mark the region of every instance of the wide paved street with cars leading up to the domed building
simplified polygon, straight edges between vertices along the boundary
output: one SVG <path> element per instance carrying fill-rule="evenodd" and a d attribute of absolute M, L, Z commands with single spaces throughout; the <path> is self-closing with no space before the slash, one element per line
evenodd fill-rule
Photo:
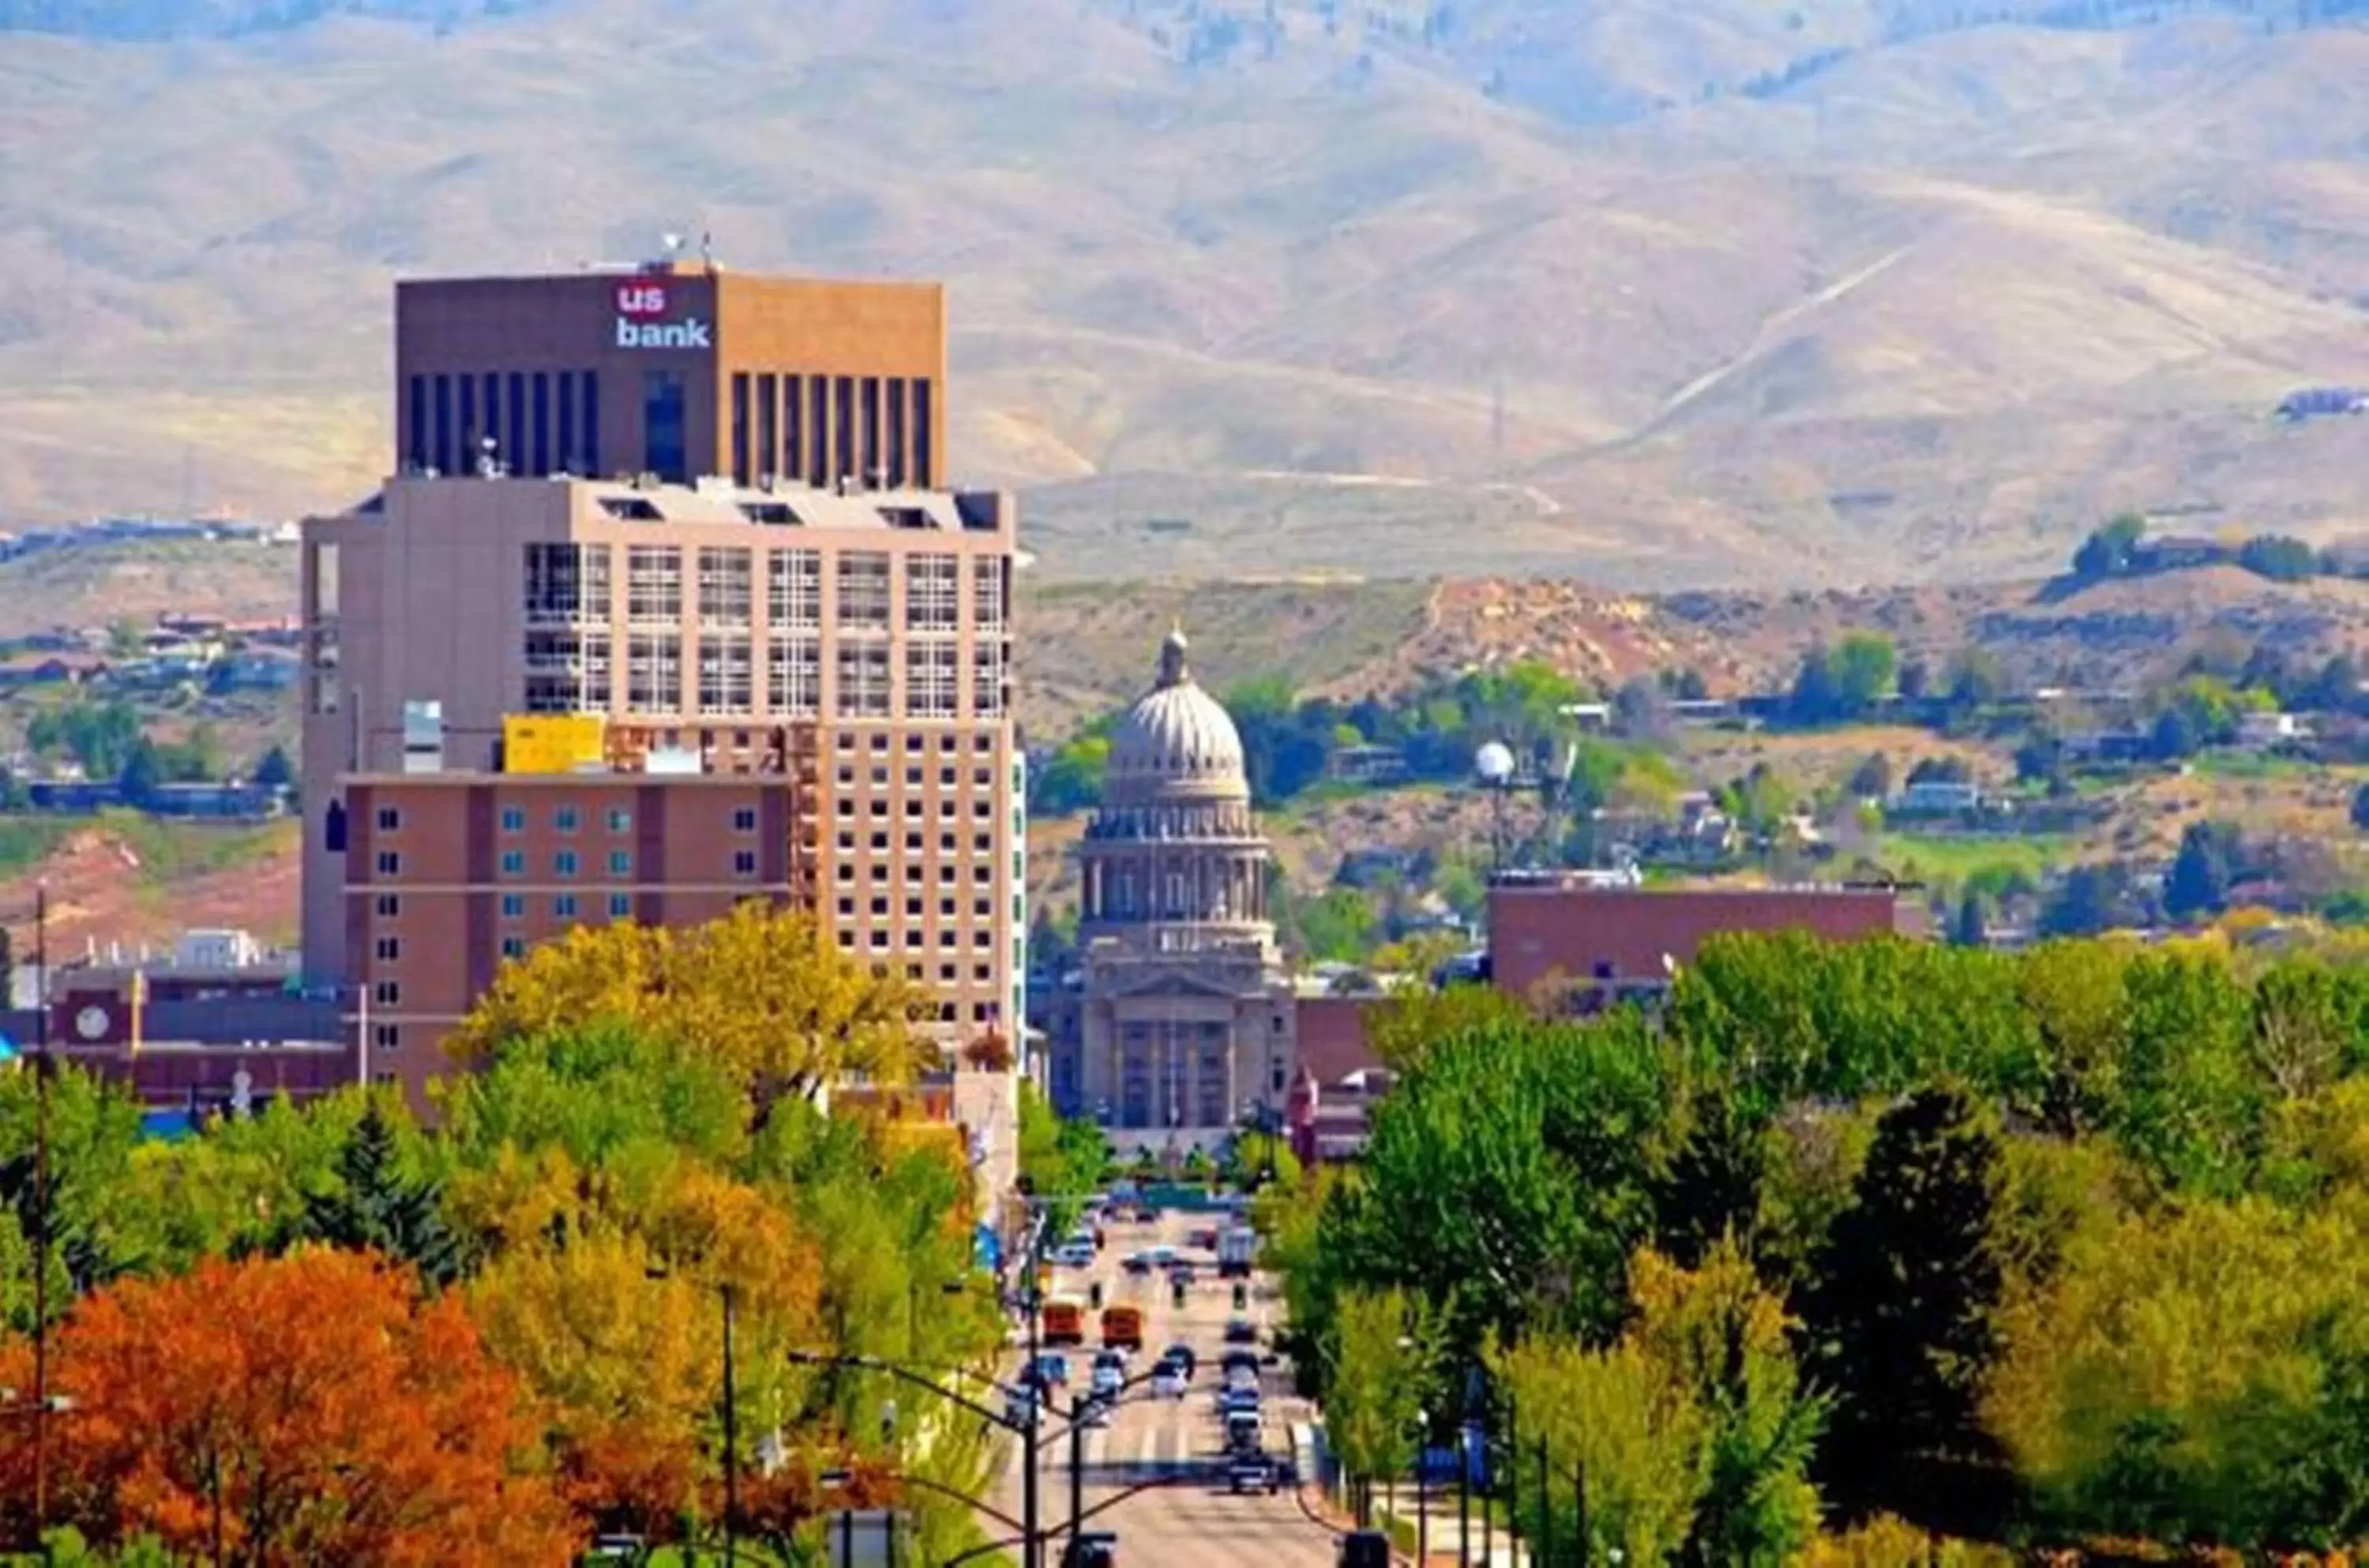
<path fill-rule="evenodd" d="M 1156 1400 L 1149 1386 L 1130 1388 L 1109 1426 L 1085 1431 L 1085 1464 L 1078 1469 L 1078 1480 L 1087 1511 L 1128 1487 L 1158 1483 L 1094 1514 L 1085 1528 L 1116 1530 L 1118 1561 L 1125 1568 L 1222 1563 L 1331 1568 L 1334 1532 L 1301 1511 L 1291 1487 L 1272 1497 L 1265 1492 L 1234 1497 L 1225 1485 L 1225 1438 L 1215 1397 L 1225 1383 L 1218 1362 L 1225 1355 L 1225 1322 L 1234 1317 L 1232 1281 L 1218 1279 L 1218 1260 L 1208 1248 L 1184 1246 L 1189 1232 L 1225 1225 L 1225 1215 L 1192 1213 L 1166 1213 L 1158 1225 L 1113 1222 L 1109 1246 L 1094 1258 L 1092 1270 L 1054 1270 L 1057 1296 L 1083 1300 L 1087 1286 L 1102 1281 L 1106 1305 L 1125 1303 L 1144 1310 L 1144 1350 L 1132 1360 L 1130 1376 L 1149 1371 L 1173 1343 L 1187 1343 L 1199 1355 L 1182 1400 Z M 1177 1248 L 1194 1265 L 1182 1312 L 1173 1305 L 1166 1272 L 1128 1274 L 1121 1267 L 1128 1253 L 1156 1244 Z M 1267 1279 L 1253 1279 L 1251 1307 L 1244 1312 L 1260 1329 L 1260 1352 L 1270 1348 L 1267 1329 L 1277 1312 L 1270 1291 Z M 1087 1315 L 1087 1343 L 1068 1352 L 1071 1383 L 1057 1397 L 1059 1409 L 1068 1409 L 1068 1397 L 1087 1388 L 1094 1350 L 1102 1343 L 1094 1324 L 1097 1315 Z M 1267 1452 L 1289 1457 L 1291 1424 L 1308 1419 L 1308 1405 L 1291 1395 L 1289 1367 L 1267 1369 L 1260 1386 Z M 1047 1431 L 1061 1433 L 1042 1447 L 1038 1476 L 1038 1502 L 1045 1523 L 1052 1525 L 1064 1523 L 1071 1509 L 1071 1445 L 1066 1421 L 1052 1419 Z M 995 1478 L 995 1502 L 1012 1514 L 1021 1509 L 1016 1450 L 1016 1442 L 1007 1445 Z M 1059 1547 L 1047 1556 L 1047 1568 L 1057 1563 Z"/>

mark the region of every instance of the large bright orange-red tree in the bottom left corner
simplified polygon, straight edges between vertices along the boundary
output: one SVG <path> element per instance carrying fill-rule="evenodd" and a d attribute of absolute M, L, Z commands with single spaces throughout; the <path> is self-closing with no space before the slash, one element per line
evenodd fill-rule
<path fill-rule="evenodd" d="M 0 1352 L 26 1386 L 28 1345 Z M 220 1563 L 566 1563 L 538 1428 L 457 1296 L 365 1253 L 206 1260 L 81 1300 L 52 1338 L 50 1518 Z M 31 1445 L 0 1502 L 31 1514 Z"/>

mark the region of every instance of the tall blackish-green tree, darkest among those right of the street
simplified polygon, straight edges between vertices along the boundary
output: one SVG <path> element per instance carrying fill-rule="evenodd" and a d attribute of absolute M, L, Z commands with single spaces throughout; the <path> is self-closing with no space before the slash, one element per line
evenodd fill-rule
<path fill-rule="evenodd" d="M 2004 1289 L 1999 1199 L 1999 1144 L 1964 1092 L 1919 1090 L 1876 1123 L 1803 1303 L 1810 1371 L 1836 1395 L 1819 1473 L 1850 1516 L 1964 1528 L 1935 1499 L 1999 1506 L 1980 1485 L 1978 1419 Z"/>

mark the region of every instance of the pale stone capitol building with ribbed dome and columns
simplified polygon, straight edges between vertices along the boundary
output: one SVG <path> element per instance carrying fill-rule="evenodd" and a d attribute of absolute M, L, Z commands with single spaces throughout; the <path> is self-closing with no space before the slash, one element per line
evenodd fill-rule
<path fill-rule="evenodd" d="M 1267 917 L 1267 841 L 1241 734 L 1199 687 L 1184 632 L 1111 737 L 1078 846 L 1078 964 L 1042 997 L 1052 1099 L 1121 1144 L 1215 1149 L 1282 1113 L 1293 988 Z M 1130 1137 L 1130 1132 L 1135 1137 Z"/>

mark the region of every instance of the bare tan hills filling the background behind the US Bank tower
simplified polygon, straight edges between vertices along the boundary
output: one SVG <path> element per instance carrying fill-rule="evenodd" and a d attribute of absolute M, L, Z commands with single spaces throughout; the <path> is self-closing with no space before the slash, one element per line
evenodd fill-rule
<path fill-rule="evenodd" d="M 2357 0 L 0 0 L 0 507 L 351 500 L 389 284 L 940 277 L 1052 578 L 2369 523 Z"/>

